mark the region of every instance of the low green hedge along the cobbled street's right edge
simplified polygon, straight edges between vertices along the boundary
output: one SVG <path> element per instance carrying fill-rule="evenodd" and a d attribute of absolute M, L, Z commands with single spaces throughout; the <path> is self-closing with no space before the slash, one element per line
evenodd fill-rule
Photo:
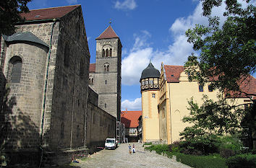
<path fill-rule="evenodd" d="M 176 161 L 195 168 L 226 168 L 226 159 L 218 155 L 193 156 L 188 154 L 176 154 Z"/>

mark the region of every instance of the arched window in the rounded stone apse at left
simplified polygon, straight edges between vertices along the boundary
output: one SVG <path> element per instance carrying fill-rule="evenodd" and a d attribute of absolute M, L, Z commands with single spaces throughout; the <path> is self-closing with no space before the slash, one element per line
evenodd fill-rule
<path fill-rule="evenodd" d="M 9 61 L 9 79 L 12 83 L 20 83 L 22 74 L 22 58 L 14 56 Z"/>

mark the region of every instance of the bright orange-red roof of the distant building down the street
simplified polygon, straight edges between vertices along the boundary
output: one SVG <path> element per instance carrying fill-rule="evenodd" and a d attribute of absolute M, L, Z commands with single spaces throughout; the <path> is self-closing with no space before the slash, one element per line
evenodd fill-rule
<path fill-rule="evenodd" d="M 137 128 L 140 115 L 142 111 L 121 111 L 121 123 L 125 124 L 125 128 Z"/>

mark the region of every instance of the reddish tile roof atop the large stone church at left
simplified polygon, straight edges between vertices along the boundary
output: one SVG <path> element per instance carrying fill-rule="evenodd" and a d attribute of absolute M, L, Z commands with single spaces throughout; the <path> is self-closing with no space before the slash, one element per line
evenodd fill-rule
<path fill-rule="evenodd" d="M 35 9 L 30 10 L 28 13 L 20 14 L 21 17 L 25 17 L 26 20 L 40 20 L 40 19 L 54 19 L 64 17 L 72 10 L 76 9 L 80 5 L 72 5 L 72 6 L 60 6 L 46 9 Z"/>

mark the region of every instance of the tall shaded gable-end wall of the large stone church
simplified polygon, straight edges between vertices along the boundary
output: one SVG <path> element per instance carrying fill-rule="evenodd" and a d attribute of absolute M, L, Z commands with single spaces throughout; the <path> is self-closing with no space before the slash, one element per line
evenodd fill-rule
<path fill-rule="evenodd" d="M 82 9 L 78 7 L 61 18 L 56 53 L 52 109 L 46 111 L 51 149 L 85 146 L 85 121 L 88 96 L 88 49 Z M 69 45 L 68 63 L 64 63 Z M 50 110 L 50 109 L 49 109 Z M 51 118 L 51 121 L 50 121 Z"/>

